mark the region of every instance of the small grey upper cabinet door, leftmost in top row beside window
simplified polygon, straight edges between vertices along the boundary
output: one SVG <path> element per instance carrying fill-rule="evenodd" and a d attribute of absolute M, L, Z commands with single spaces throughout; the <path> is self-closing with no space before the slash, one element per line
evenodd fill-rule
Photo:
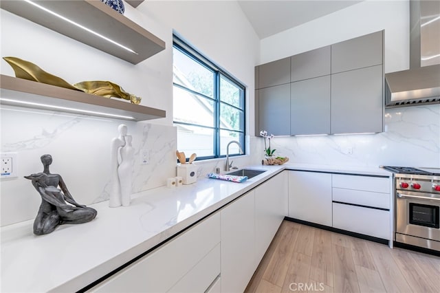
<path fill-rule="evenodd" d="M 259 88 L 290 83 L 290 57 L 259 66 Z"/>

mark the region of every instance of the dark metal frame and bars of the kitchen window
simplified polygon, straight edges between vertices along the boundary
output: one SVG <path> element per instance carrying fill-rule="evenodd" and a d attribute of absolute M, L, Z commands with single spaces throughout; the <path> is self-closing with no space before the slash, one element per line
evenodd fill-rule
<path fill-rule="evenodd" d="M 173 52 L 174 50 L 179 50 L 182 54 L 185 54 L 189 58 L 191 58 L 196 63 L 199 63 L 199 65 L 206 67 L 214 74 L 214 97 L 206 96 L 204 94 L 201 94 L 199 91 L 193 91 L 192 89 L 189 89 L 185 87 L 184 85 L 180 85 L 178 83 L 174 82 L 173 77 L 173 89 L 174 87 L 178 87 L 179 89 L 188 91 L 192 94 L 197 94 L 199 96 L 202 96 L 203 98 L 206 98 L 212 102 L 214 102 L 214 123 L 212 127 L 207 127 L 206 125 L 201 124 L 193 124 L 193 123 L 186 123 L 186 122 L 176 122 L 173 117 L 173 125 L 176 126 L 176 124 L 180 125 L 188 125 L 188 126 L 194 126 L 194 127 L 203 127 L 207 129 L 212 129 L 213 131 L 213 140 L 212 140 L 212 150 L 214 155 L 206 155 L 197 157 L 196 160 L 210 160 L 210 159 L 217 159 L 217 158 L 225 158 L 226 155 L 221 155 L 221 131 L 232 131 L 234 133 L 238 133 L 239 138 L 236 139 L 240 142 L 243 154 L 234 153 L 230 154 L 230 157 L 232 156 L 239 156 L 239 155 L 245 155 L 246 153 L 246 145 L 245 145 L 245 135 L 246 135 L 246 87 L 241 83 L 237 78 L 234 78 L 231 74 L 226 72 L 223 68 L 219 67 L 212 61 L 210 61 L 206 56 L 203 56 L 200 52 L 195 50 L 194 47 L 189 45 L 186 41 L 182 40 L 179 36 L 176 34 L 173 34 Z M 173 61 L 174 63 L 174 61 Z M 174 76 L 174 74 L 173 74 Z M 220 96 L 220 87 L 221 87 L 221 78 L 225 79 L 229 83 L 232 83 L 232 85 L 236 86 L 241 93 L 241 96 L 239 97 L 240 104 L 242 105 L 242 108 L 236 107 L 232 104 L 229 104 L 228 102 L 224 102 L 221 100 Z M 173 96 L 173 103 L 174 103 L 174 96 Z M 228 105 L 229 107 L 232 107 L 238 111 L 240 111 L 243 115 L 243 121 L 242 121 L 242 127 L 243 129 L 235 130 L 235 129 L 227 129 L 224 127 L 221 127 L 221 105 Z M 174 116 L 174 115 L 173 115 Z M 188 154 L 187 154 L 188 155 Z"/>

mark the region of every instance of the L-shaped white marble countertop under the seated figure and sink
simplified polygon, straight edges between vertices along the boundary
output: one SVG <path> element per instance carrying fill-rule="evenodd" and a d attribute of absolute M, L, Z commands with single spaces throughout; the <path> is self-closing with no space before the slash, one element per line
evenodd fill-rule
<path fill-rule="evenodd" d="M 49 235 L 33 235 L 33 220 L 1 228 L 1 292 L 80 290 L 284 169 L 391 175 L 379 168 L 247 168 L 267 172 L 243 183 L 199 178 L 195 184 L 151 189 L 134 194 L 129 207 L 94 204 L 94 221 L 63 225 Z"/>

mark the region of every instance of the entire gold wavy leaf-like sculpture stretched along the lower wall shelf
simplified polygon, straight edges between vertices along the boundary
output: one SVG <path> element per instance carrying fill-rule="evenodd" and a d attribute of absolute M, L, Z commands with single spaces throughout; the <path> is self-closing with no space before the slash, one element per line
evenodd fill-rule
<path fill-rule="evenodd" d="M 14 69 L 15 76 L 18 78 L 45 83 L 47 85 L 55 85 L 56 87 L 65 87 L 66 89 L 74 89 L 76 91 L 85 91 L 87 94 L 102 96 L 104 98 L 123 98 L 135 105 L 139 105 L 142 99 L 127 93 L 120 85 L 116 85 L 110 81 L 91 80 L 70 85 L 67 81 L 63 80 L 63 78 L 45 72 L 29 61 L 24 61 L 17 57 L 3 57 L 3 59 L 11 65 L 12 69 Z"/>

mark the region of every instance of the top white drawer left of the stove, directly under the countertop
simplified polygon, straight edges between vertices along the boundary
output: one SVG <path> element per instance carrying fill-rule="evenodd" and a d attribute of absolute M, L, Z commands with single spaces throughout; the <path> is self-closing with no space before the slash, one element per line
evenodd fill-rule
<path fill-rule="evenodd" d="M 333 187 L 375 193 L 390 193 L 391 185 L 389 178 L 340 174 L 333 174 L 331 183 Z"/>

